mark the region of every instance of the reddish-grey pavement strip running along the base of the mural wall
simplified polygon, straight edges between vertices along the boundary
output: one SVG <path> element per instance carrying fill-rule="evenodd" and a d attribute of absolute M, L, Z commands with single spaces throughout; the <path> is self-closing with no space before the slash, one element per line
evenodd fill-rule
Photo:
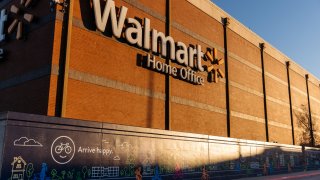
<path fill-rule="evenodd" d="M 288 174 L 278 174 L 278 175 L 271 175 L 271 176 L 261 176 L 261 177 L 251 177 L 251 178 L 241 178 L 242 180 L 281 180 L 281 179 L 303 179 L 306 177 L 312 176 L 319 176 L 320 177 L 320 170 L 313 170 L 313 171 L 302 171 L 296 173 L 288 173 Z M 319 178 L 320 179 L 320 178 Z"/>

